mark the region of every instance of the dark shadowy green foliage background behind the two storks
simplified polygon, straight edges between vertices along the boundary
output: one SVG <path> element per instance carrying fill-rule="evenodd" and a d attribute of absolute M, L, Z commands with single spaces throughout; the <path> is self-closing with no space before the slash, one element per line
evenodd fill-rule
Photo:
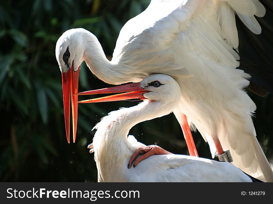
<path fill-rule="evenodd" d="M 2 182 L 96 182 L 92 127 L 108 112 L 137 102 L 80 104 L 76 143 L 68 144 L 56 41 L 67 29 L 85 28 L 97 36 L 109 59 L 122 26 L 149 0 L 7 0 L 0 3 L 0 179 Z M 81 66 L 79 91 L 105 88 Z M 257 138 L 273 154 L 273 97 L 249 93 L 257 104 Z M 83 98 L 84 99 L 84 98 Z M 72 129 L 72 128 L 71 128 Z M 72 132 L 72 131 L 71 131 Z M 188 154 L 173 114 L 143 122 L 130 131 L 140 142 Z M 211 158 L 208 145 L 193 133 L 199 156 Z M 239 136 L 239 135 L 238 135 Z"/>

